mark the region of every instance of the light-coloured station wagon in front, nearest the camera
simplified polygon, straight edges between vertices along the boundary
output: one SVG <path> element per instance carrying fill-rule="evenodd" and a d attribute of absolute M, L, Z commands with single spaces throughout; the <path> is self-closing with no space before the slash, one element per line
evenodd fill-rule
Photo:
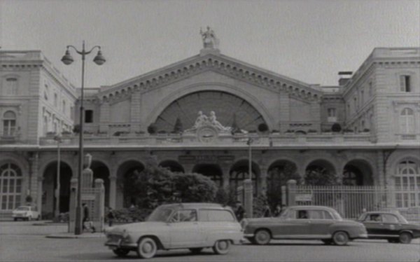
<path fill-rule="evenodd" d="M 137 251 L 139 257 L 151 258 L 158 249 L 200 253 L 212 247 L 216 254 L 227 254 L 230 244 L 239 244 L 244 233 L 230 207 L 179 203 L 157 207 L 145 222 L 113 227 L 106 237 L 105 245 L 117 256 Z"/>

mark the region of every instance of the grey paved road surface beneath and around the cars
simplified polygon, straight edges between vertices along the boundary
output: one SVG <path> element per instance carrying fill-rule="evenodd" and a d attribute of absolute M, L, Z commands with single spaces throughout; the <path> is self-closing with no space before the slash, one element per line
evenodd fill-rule
<path fill-rule="evenodd" d="M 53 239 L 66 226 L 34 226 L 34 222 L 0 222 L 0 261 L 138 261 L 130 252 L 117 258 L 104 247 L 105 237 Z M 88 236 L 89 233 L 86 233 Z M 320 241 L 275 241 L 267 246 L 233 246 L 225 256 L 211 249 L 191 255 L 186 249 L 160 251 L 147 261 L 419 261 L 420 241 L 389 244 L 382 240 L 357 240 L 346 247 L 325 246 Z"/>

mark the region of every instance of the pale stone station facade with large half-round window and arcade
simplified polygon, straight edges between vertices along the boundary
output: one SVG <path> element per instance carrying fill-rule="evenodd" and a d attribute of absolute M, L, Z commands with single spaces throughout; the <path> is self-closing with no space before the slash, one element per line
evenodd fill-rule
<path fill-rule="evenodd" d="M 78 136 L 64 134 L 79 123 L 76 89 L 39 51 L 3 50 L 0 57 L 0 212 L 27 195 L 44 215 L 54 211 L 53 131 L 62 133 L 59 201 L 66 212 L 78 170 Z M 316 169 L 355 185 L 420 186 L 419 69 L 420 48 L 375 48 L 344 84 L 311 85 L 211 44 L 162 69 L 85 90 L 85 152 L 93 156 L 94 178 L 104 179 L 106 205 L 117 209 L 127 205 L 125 177 L 151 157 L 219 186 L 239 186 L 248 177 L 249 138 L 255 194 L 267 190 L 272 170 L 288 164 L 301 177 Z M 241 131 L 209 124 L 173 132 L 177 119 L 191 129 L 198 111 L 214 111 L 220 125 Z M 342 131 L 331 132 L 333 123 Z M 148 134 L 152 124 L 156 134 Z M 395 205 L 405 206 L 405 196 Z"/>

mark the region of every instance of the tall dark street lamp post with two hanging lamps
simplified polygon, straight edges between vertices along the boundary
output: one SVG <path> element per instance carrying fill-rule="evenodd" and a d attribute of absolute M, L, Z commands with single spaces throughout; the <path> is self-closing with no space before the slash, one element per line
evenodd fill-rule
<path fill-rule="evenodd" d="M 79 130 L 79 153 L 78 153 L 78 181 L 77 181 L 77 200 L 76 200 L 76 221 L 75 221 L 75 228 L 74 228 L 74 234 L 80 235 L 82 233 L 82 207 L 81 207 L 81 198 L 82 198 L 82 172 L 83 172 L 83 88 L 85 86 L 85 56 L 92 53 L 94 48 L 98 48 L 98 53 L 94 57 L 93 62 L 97 65 L 102 65 L 104 62 L 106 62 L 105 58 L 102 56 L 101 47 L 100 46 L 94 46 L 89 51 L 85 50 L 85 41 L 83 41 L 82 50 L 79 51 L 74 46 L 67 46 L 66 53 L 62 57 L 62 62 L 66 65 L 71 64 L 74 60 L 73 57 L 70 55 L 69 48 L 73 48 L 73 50 L 76 51 L 79 55 L 82 56 L 82 83 L 81 83 L 81 91 L 80 91 L 80 130 Z"/>

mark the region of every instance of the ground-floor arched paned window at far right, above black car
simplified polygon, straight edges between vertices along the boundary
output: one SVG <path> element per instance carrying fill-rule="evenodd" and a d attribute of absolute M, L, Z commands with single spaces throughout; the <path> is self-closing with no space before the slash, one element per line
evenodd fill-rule
<path fill-rule="evenodd" d="M 395 204 L 397 207 L 420 205 L 419 164 L 403 160 L 398 164 L 395 175 Z"/>

